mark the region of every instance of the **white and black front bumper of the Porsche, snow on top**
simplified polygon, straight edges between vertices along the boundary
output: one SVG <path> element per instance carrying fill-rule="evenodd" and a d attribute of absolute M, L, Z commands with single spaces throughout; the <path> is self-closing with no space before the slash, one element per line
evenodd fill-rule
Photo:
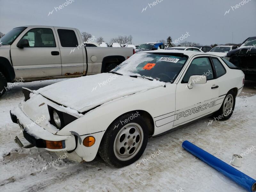
<path fill-rule="evenodd" d="M 13 123 L 17 123 L 20 125 L 20 128 L 23 132 L 24 138 L 28 140 L 29 143 L 38 147 L 44 148 L 48 151 L 73 151 L 77 147 L 77 139 L 74 135 L 62 136 L 62 135 L 55 135 L 41 126 L 37 125 L 31 119 L 29 119 L 24 112 L 21 110 L 20 107 L 14 108 L 10 111 L 11 119 Z M 31 126 L 33 125 L 33 126 Z M 61 149 L 49 149 L 46 148 L 45 141 L 62 141 L 63 148 Z"/>

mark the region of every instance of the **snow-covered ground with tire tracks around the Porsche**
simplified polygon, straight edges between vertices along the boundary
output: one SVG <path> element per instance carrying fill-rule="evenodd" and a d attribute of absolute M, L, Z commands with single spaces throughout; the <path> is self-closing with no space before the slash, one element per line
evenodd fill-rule
<path fill-rule="evenodd" d="M 182 149 L 184 140 L 226 163 L 233 154 L 245 154 L 242 167 L 237 169 L 256 179 L 255 83 L 246 82 L 228 121 L 213 120 L 207 126 L 212 120 L 207 118 L 164 136 L 150 138 L 140 160 L 116 169 L 100 157 L 79 164 L 65 158 L 58 160 L 60 156 L 44 149 L 20 149 L 14 143 L 15 136 L 21 138 L 22 133 L 19 126 L 12 123 L 9 111 L 23 99 L 21 87 L 37 90 L 58 81 L 61 80 L 21 83 L 0 99 L 0 191 L 245 191 Z M 57 163 L 52 164 L 56 159 Z M 45 170 L 47 164 L 51 166 Z"/>

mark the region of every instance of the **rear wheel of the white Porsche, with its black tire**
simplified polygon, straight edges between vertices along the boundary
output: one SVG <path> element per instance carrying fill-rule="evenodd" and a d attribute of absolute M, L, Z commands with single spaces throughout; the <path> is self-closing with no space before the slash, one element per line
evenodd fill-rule
<path fill-rule="evenodd" d="M 228 107 L 228 103 L 227 103 L 227 101 L 228 102 L 231 101 L 229 99 L 233 100 L 232 104 L 230 104 L 230 107 Z M 228 120 L 234 112 L 235 105 L 236 105 L 236 93 L 230 90 L 227 93 L 226 97 L 224 98 L 220 109 L 213 115 L 214 119 L 217 119 L 220 121 Z M 227 110 L 227 108 L 230 108 L 230 109 Z"/>

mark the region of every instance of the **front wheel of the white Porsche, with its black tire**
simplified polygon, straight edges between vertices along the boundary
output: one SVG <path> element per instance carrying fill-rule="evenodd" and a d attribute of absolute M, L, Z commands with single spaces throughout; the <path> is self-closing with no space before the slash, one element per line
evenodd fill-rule
<path fill-rule="evenodd" d="M 127 123 L 125 121 L 127 121 Z M 135 128 L 136 132 L 132 133 L 133 125 L 135 125 L 135 126 L 139 125 L 141 129 Z M 131 135 L 130 135 L 130 133 L 136 135 L 137 129 L 140 129 L 141 130 L 140 133 L 143 134 L 143 135 L 141 135 L 141 137 L 139 136 L 140 141 L 137 140 L 138 135 L 137 135 L 137 137 L 132 136 L 133 139 L 131 138 Z M 123 135 L 124 135 L 123 131 L 128 132 L 128 136 L 125 134 L 125 136 L 123 137 Z M 131 139 L 129 139 L 129 136 Z M 120 137 L 120 139 L 118 139 L 119 137 Z M 143 137 L 143 139 L 141 139 L 142 137 Z M 121 138 L 124 138 L 124 140 L 122 141 L 124 144 L 122 144 Z M 126 142 L 127 140 L 128 140 L 128 142 Z M 131 140 L 132 140 L 132 142 L 131 142 Z M 124 154 L 118 154 L 118 152 L 117 152 L 118 147 L 116 147 L 117 142 L 119 142 L 119 144 L 124 145 L 124 147 L 122 147 L 125 150 Z M 126 145 L 125 145 L 125 143 L 126 143 Z M 128 114 L 118 117 L 108 127 L 107 131 L 105 132 L 105 134 L 101 140 L 99 154 L 100 154 L 101 158 L 107 164 L 109 164 L 113 167 L 116 167 L 116 168 L 120 168 L 120 167 L 130 165 L 130 164 L 134 163 L 135 161 L 137 161 L 142 156 L 142 154 L 147 146 L 147 143 L 148 143 L 148 128 L 147 128 L 147 125 L 146 125 L 144 119 L 140 115 L 136 116 L 136 112 L 134 114 L 128 113 Z M 137 146 L 137 144 L 138 144 L 138 146 Z M 137 148 L 136 148 L 136 146 L 137 146 Z M 129 147 L 130 147 L 130 150 L 128 151 Z M 134 148 L 133 153 L 130 153 L 132 151 L 132 148 Z M 121 151 L 121 148 L 119 149 L 119 152 L 120 153 L 123 152 L 123 151 Z M 128 155 L 128 156 L 125 157 L 124 159 L 120 159 L 120 158 L 122 158 L 122 156 L 124 157 L 124 155 Z"/>

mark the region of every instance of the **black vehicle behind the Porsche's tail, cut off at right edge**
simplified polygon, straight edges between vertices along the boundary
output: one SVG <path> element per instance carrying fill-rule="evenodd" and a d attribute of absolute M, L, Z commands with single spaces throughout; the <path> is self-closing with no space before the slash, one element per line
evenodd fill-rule
<path fill-rule="evenodd" d="M 247 38 L 240 47 L 229 51 L 225 59 L 244 72 L 245 80 L 256 81 L 256 36 Z"/>

